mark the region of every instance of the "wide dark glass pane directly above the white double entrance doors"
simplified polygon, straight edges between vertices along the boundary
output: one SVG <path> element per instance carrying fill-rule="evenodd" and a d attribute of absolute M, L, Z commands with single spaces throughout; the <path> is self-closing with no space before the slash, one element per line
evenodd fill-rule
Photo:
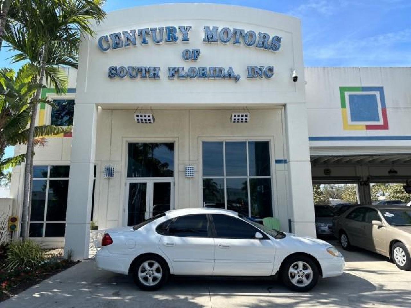
<path fill-rule="evenodd" d="M 173 177 L 174 143 L 129 143 L 127 177 Z"/>

